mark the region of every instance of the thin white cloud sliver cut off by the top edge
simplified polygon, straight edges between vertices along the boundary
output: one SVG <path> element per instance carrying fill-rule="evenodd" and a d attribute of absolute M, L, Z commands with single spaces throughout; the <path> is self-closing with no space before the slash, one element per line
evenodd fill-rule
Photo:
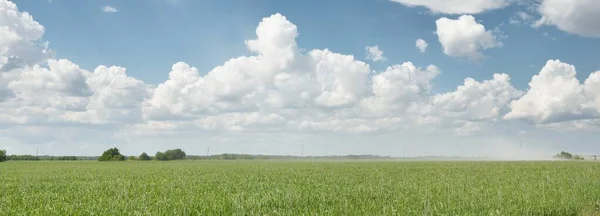
<path fill-rule="evenodd" d="M 509 0 L 391 0 L 408 7 L 426 7 L 434 13 L 478 14 L 488 10 L 506 7 Z"/>

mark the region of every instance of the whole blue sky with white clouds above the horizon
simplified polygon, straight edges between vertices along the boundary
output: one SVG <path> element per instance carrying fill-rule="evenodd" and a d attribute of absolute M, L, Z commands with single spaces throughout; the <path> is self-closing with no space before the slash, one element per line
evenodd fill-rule
<path fill-rule="evenodd" d="M 595 0 L 0 0 L 9 154 L 600 154 Z"/>

